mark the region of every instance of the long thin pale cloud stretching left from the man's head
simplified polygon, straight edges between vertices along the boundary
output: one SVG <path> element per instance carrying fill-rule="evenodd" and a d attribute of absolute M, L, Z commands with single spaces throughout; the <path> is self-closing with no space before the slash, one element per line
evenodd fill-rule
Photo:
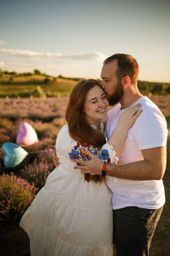
<path fill-rule="evenodd" d="M 57 59 L 69 59 L 77 61 L 103 61 L 105 55 L 100 52 L 94 52 L 90 54 L 82 55 L 61 55 L 60 53 L 42 53 L 31 50 L 21 50 L 21 49 L 0 49 L 0 53 L 3 55 L 13 55 L 21 58 L 57 58 Z"/>

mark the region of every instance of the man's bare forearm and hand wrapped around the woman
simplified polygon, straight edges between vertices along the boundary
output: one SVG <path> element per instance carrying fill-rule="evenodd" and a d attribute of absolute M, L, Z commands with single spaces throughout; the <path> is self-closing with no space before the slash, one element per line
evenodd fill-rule
<path fill-rule="evenodd" d="M 132 180 L 159 180 L 163 177 L 167 164 L 166 147 L 149 148 L 141 150 L 144 160 L 133 163 L 116 165 L 107 165 L 106 175 L 112 177 L 120 177 Z M 74 160 L 82 166 L 75 166 L 75 169 L 81 169 L 82 173 L 90 173 L 92 175 L 101 175 L 103 162 L 94 154 L 88 151 L 91 160 L 82 161 Z"/>

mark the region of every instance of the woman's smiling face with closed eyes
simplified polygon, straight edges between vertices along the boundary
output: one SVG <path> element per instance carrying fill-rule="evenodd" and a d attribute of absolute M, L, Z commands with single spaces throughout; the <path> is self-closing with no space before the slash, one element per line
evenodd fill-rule
<path fill-rule="evenodd" d="M 105 119 L 109 102 L 105 91 L 99 85 L 94 86 L 88 91 L 84 102 L 84 113 L 90 125 L 98 125 Z"/>

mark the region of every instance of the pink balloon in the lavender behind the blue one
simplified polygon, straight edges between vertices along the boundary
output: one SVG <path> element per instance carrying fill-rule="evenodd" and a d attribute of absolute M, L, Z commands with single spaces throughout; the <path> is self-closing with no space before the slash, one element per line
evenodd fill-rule
<path fill-rule="evenodd" d="M 24 122 L 20 124 L 19 135 L 16 138 L 16 143 L 23 146 L 31 146 L 37 143 L 37 133 L 31 125 Z"/>

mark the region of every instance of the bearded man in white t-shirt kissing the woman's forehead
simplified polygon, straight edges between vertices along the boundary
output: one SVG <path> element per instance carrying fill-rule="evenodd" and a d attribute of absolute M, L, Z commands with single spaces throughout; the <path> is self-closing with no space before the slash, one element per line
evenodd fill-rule
<path fill-rule="evenodd" d="M 105 167 L 88 152 L 91 160 L 83 162 L 82 173 L 106 175 L 113 192 L 114 241 L 118 256 L 149 255 L 150 242 L 165 203 L 161 178 L 167 160 L 167 123 L 156 104 L 138 90 L 139 65 L 131 55 L 111 55 L 101 71 L 102 86 L 111 105 L 108 113 L 107 138 L 125 108 L 140 103 L 143 113 L 128 131 L 118 165 Z M 103 169 L 103 170 L 102 170 Z"/>

